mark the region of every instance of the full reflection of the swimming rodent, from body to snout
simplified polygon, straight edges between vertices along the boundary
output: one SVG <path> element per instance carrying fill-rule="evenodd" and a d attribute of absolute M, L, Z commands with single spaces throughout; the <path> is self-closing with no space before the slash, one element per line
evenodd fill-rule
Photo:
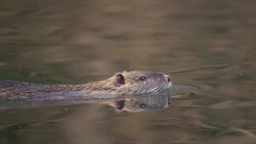
<path fill-rule="evenodd" d="M 0 101 L 0 112 L 8 112 L 26 108 L 42 108 L 49 106 L 67 106 L 77 104 L 107 104 L 114 107 L 118 112 L 143 112 L 148 110 L 168 108 L 171 98 L 168 94 L 152 95 L 152 96 L 136 96 L 136 98 L 116 98 L 116 99 L 58 99 L 58 100 L 42 100 L 27 101 L 14 100 Z"/>

